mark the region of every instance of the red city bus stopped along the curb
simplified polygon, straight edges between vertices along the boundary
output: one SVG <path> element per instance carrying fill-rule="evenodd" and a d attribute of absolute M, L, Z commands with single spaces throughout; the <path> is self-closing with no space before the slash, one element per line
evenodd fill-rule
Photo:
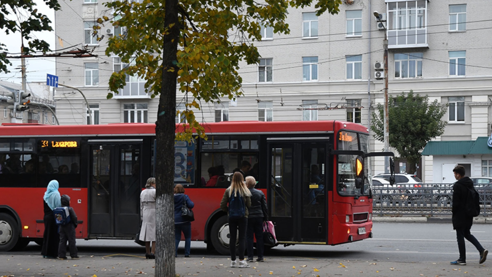
<path fill-rule="evenodd" d="M 363 167 L 370 156 L 367 128 L 341 121 L 204 127 L 208 140 L 175 143 L 174 181 L 195 203 L 194 241 L 229 253 L 227 216 L 219 203 L 243 161 L 267 195 L 279 244 L 335 245 L 372 237 Z M 155 143 L 154 124 L 0 126 L 0 251 L 42 242 L 42 198 L 52 179 L 71 198 L 77 238 L 133 239 L 140 191 L 155 171 Z M 211 168 L 219 176 L 207 186 Z"/>

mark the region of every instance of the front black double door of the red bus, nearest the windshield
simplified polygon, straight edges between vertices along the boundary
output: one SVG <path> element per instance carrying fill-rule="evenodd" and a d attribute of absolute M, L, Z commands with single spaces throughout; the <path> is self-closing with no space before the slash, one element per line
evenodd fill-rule
<path fill-rule="evenodd" d="M 308 139 L 268 143 L 268 203 L 278 241 L 327 242 L 327 143 Z"/>

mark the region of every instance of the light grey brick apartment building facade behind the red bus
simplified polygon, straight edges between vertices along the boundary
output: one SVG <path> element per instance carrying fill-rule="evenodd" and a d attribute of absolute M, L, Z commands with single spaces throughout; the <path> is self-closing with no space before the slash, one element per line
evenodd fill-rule
<path fill-rule="evenodd" d="M 55 99 L 60 123 L 155 122 L 158 99 L 145 92 L 144 80 L 130 76 L 119 95 L 106 99 L 111 73 L 125 66 L 118 57 L 104 55 L 107 38 L 121 30 L 106 25 L 99 41 L 91 33 L 97 18 L 110 11 L 101 0 L 61 4 L 55 22 L 64 46 L 57 48 L 87 46 L 98 57 L 57 59 L 60 83 L 79 88 L 87 99 L 59 87 Z M 492 176 L 490 148 L 463 154 L 465 150 L 445 150 L 444 143 L 479 143 L 491 134 L 492 20 L 486 12 L 491 8 L 488 0 L 344 0 L 336 15 L 318 17 L 314 7 L 291 9 L 289 35 L 267 27 L 262 40 L 254 42 L 261 59 L 257 65 L 242 65 L 244 96 L 201 103 L 203 109 L 195 114 L 203 122 L 336 119 L 369 128 L 370 113 L 384 101 L 386 34 L 389 95 L 413 90 L 449 105 L 444 134 L 432 142 L 435 147 L 424 150 L 419 169 L 424 181 L 447 182 L 449 168 L 457 163 L 469 168 L 469 175 Z M 186 100 L 177 92 L 178 109 Z M 373 151 L 382 148 L 381 141 L 371 140 Z M 384 172 L 383 160 L 376 159 L 372 167 L 374 173 Z M 397 170 L 405 170 L 404 160 Z"/>

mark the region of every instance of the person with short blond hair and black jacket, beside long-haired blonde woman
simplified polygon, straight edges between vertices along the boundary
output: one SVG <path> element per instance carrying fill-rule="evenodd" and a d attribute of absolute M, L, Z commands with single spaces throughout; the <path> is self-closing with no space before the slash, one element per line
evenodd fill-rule
<path fill-rule="evenodd" d="M 251 206 L 248 208 L 246 228 L 247 261 L 253 261 L 253 233 L 256 237 L 256 250 L 258 258 L 256 261 L 263 262 L 263 221 L 268 220 L 267 200 L 261 190 L 254 188 L 256 180 L 253 176 L 246 177 L 246 186 L 251 192 Z"/>

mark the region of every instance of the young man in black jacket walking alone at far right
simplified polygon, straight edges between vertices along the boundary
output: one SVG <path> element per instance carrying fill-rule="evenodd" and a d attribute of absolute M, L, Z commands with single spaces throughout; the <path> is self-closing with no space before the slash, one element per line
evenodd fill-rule
<path fill-rule="evenodd" d="M 482 247 L 480 242 L 470 234 L 471 225 L 473 224 L 473 217 L 466 214 L 466 198 L 468 195 L 468 188 L 473 188 L 473 181 L 465 176 L 465 170 L 463 166 L 456 166 L 453 169 L 455 178 L 458 180 L 453 185 L 453 229 L 456 230 L 456 239 L 458 240 L 458 249 L 460 250 L 460 258 L 452 265 L 466 265 L 466 253 L 464 239 L 473 243 L 477 250 L 480 252 L 480 263 L 485 262 L 489 251 Z"/>

